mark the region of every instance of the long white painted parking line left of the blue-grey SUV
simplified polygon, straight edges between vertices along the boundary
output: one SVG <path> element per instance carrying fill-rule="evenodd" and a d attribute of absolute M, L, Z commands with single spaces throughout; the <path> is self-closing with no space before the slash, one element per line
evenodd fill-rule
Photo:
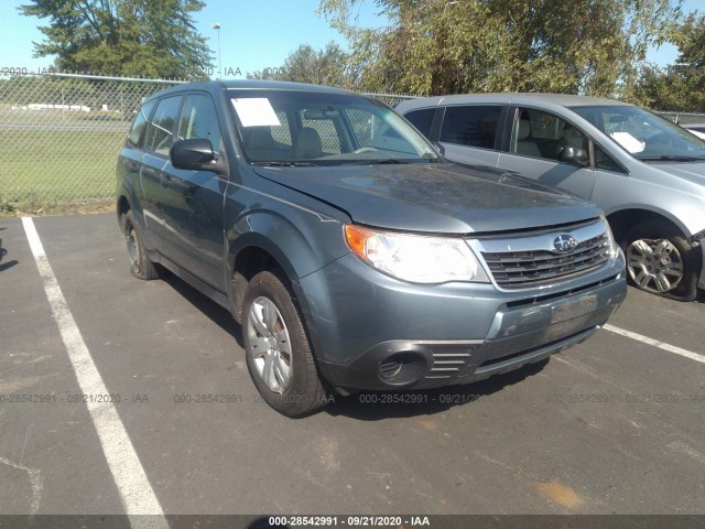
<path fill-rule="evenodd" d="M 80 331 L 68 309 L 66 299 L 46 258 L 44 247 L 30 217 L 22 217 L 24 233 L 44 283 L 44 292 L 52 314 L 64 341 L 64 346 L 76 373 L 84 395 L 109 395 L 100 373 L 93 361 Z M 156 499 L 149 478 L 124 430 L 118 411 L 111 402 L 94 402 L 88 399 L 88 411 L 98 433 L 108 466 L 120 493 L 126 514 L 133 528 L 150 527 L 169 529 L 162 507 Z M 156 516 L 142 516 L 156 515 Z"/>

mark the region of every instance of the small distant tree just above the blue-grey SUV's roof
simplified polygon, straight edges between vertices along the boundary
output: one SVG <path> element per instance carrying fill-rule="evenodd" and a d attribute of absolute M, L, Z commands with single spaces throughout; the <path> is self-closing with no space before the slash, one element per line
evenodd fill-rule
<path fill-rule="evenodd" d="M 248 74 L 253 79 L 291 80 L 313 85 L 352 88 L 355 72 L 350 67 L 349 55 L 335 42 L 316 51 L 310 44 L 302 44 L 289 54 L 281 72 L 273 75 L 267 71 Z"/>

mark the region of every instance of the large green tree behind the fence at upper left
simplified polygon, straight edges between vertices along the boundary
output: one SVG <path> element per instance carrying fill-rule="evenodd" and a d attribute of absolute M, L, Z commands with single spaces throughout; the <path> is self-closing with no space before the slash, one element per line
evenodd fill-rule
<path fill-rule="evenodd" d="M 192 19 L 203 7 L 200 0 L 31 0 L 18 9 L 48 19 L 34 55 L 56 55 L 57 69 L 205 78 L 210 51 Z"/>

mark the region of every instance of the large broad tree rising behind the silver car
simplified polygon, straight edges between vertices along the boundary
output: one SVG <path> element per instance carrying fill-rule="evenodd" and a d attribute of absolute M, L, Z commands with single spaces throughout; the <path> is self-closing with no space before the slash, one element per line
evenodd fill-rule
<path fill-rule="evenodd" d="M 365 0 L 321 0 L 348 39 L 367 90 L 443 95 L 556 91 L 622 96 L 680 13 L 669 0 L 376 0 L 389 20 L 359 29 Z"/>

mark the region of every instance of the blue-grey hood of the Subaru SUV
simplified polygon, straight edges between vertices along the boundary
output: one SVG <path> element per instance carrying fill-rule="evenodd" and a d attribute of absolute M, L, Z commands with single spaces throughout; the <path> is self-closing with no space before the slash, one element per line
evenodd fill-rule
<path fill-rule="evenodd" d="M 514 230 L 601 215 L 592 204 L 522 177 L 456 164 L 254 168 L 367 226 L 445 234 Z"/>

